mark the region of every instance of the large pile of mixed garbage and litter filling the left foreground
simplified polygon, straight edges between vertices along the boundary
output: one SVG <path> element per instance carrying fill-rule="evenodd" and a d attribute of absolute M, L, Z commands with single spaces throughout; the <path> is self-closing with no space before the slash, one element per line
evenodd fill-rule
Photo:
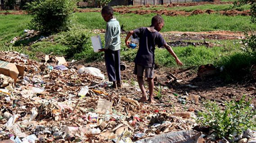
<path fill-rule="evenodd" d="M 139 103 L 130 98 L 138 87 L 124 83 L 111 89 L 95 67 L 71 66 L 63 57 L 36 62 L 18 52 L 0 55 L 0 61 L 24 67 L 15 81 L 0 71 L 0 141 L 144 143 L 156 135 L 168 138 L 170 132 L 191 139 L 201 135 L 192 130 L 197 125 L 193 111 Z"/>

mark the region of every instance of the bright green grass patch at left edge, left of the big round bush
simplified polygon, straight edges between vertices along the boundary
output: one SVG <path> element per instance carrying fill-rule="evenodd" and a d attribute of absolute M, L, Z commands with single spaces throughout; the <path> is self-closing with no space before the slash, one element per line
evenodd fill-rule
<path fill-rule="evenodd" d="M 0 15 L 0 41 L 22 34 L 31 17 L 28 15 Z"/>

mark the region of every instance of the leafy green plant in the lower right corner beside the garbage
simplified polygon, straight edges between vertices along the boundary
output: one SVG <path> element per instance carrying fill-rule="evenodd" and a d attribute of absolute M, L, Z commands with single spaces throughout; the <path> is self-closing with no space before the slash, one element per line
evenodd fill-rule
<path fill-rule="evenodd" d="M 252 119 L 256 111 L 250 106 L 250 101 L 245 101 L 245 96 L 240 101 L 225 103 L 225 109 L 221 110 L 216 102 L 207 102 L 206 112 L 199 112 L 197 122 L 202 126 L 210 126 L 215 130 L 217 137 L 231 139 L 236 133 L 241 134 L 248 128 L 256 130 L 256 120 Z"/>

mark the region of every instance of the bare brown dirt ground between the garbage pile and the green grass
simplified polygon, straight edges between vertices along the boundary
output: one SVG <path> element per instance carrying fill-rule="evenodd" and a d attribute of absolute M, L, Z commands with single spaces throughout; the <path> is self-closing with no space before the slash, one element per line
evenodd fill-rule
<path fill-rule="evenodd" d="M 76 64 L 84 64 L 82 61 Z M 126 62 L 127 68 L 125 71 L 121 72 L 121 77 L 123 82 L 136 81 L 136 76 L 133 75 L 132 71 L 134 69 L 134 63 Z M 104 75 L 107 77 L 107 71 L 105 64 L 103 62 L 99 63 L 87 63 L 85 66 L 97 67 L 103 71 Z M 175 107 L 175 109 L 186 110 L 193 108 L 196 110 L 203 109 L 203 104 L 206 100 L 216 101 L 220 105 L 224 105 L 224 101 L 230 101 L 232 99 L 239 100 L 243 95 L 246 95 L 247 100 L 252 99 L 252 104 L 256 105 L 256 82 L 255 80 L 248 80 L 243 83 L 226 83 L 220 76 L 211 76 L 206 78 L 199 78 L 197 76 L 196 70 L 198 67 L 192 67 L 188 69 L 173 69 L 166 67 L 159 67 L 155 70 L 155 85 L 162 85 L 168 88 L 162 90 L 164 95 L 162 100 L 157 100 L 157 104 L 170 105 Z M 171 76 L 177 77 L 176 81 L 171 81 Z M 179 82 L 177 82 L 179 81 Z M 146 81 L 145 81 L 146 83 Z M 135 87 L 130 87 L 134 89 Z M 155 90 L 158 88 L 155 86 Z M 122 91 L 122 90 L 121 90 Z M 129 95 L 130 91 L 125 92 Z M 140 92 L 136 92 L 137 95 L 132 96 L 133 99 L 139 99 Z M 189 98 L 193 96 L 199 96 L 199 102 L 193 103 L 189 101 L 186 105 L 182 105 L 178 102 L 178 97 L 173 98 L 173 93 L 186 96 L 189 94 Z"/>

